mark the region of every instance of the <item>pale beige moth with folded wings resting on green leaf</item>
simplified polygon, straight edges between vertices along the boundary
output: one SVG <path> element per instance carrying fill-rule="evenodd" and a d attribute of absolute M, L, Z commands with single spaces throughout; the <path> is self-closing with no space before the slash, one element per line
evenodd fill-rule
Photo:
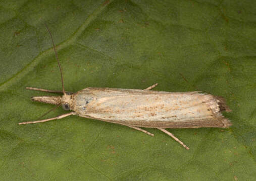
<path fill-rule="evenodd" d="M 65 92 L 63 73 L 56 46 L 52 34 L 47 26 L 46 28 L 52 39 L 53 49 L 60 68 L 62 91 L 50 91 L 34 87 L 26 88 L 49 93 L 63 93 L 62 97 L 32 97 L 32 101 L 54 104 L 57 107 L 62 106 L 64 110 L 71 110 L 71 112 L 54 118 L 19 124 L 42 123 L 78 115 L 88 119 L 128 126 L 150 136 L 154 135 L 140 127 L 157 128 L 174 138 L 186 149 L 189 148 L 166 128 L 228 128 L 232 125 L 230 120 L 222 115 L 223 111 L 231 111 L 222 97 L 201 92 L 151 91 L 150 89 L 155 87 L 157 83 L 146 89 L 88 87 L 77 93 Z"/>

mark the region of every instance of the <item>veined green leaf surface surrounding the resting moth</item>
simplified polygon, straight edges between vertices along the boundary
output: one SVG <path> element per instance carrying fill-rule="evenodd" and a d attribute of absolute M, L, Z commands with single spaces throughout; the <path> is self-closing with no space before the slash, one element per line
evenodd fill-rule
<path fill-rule="evenodd" d="M 0 180 L 253 180 L 256 1 L 0 1 Z M 228 129 L 131 128 L 70 116 L 32 96 L 85 87 L 203 91 Z M 45 116 L 66 113 L 61 108 Z"/>

